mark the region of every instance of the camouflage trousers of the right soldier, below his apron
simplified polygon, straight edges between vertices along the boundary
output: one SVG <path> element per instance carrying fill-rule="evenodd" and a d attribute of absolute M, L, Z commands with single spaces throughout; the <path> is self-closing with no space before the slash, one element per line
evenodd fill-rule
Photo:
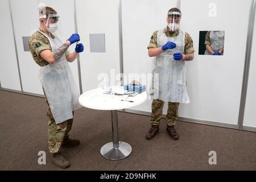
<path fill-rule="evenodd" d="M 164 102 L 161 100 L 153 100 L 152 113 L 151 113 L 151 125 L 159 125 L 160 119 L 163 113 Z M 166 124 L 169 126 L 175 126 L 178 118 L 178 102 L 168 102 L 168 110 L 166 115 Z"/>

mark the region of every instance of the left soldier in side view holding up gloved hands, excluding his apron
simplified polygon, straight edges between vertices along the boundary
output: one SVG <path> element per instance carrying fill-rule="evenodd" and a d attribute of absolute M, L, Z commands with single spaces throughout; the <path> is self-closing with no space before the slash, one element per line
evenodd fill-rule
<path fill-rule="evenodd" d="M 30 52 L 34 61 L 40 66 L 45 67 L 48 64 L 54 64 L 55 61 L 58 60 L 59 57 L 63 57 L 65 55 L 67 61 L 72 62 L 79 55 L 79 52 L 82 52 L 84 47 L 82 44 L 76 46 L 76 50 L 74 52 L 68 51 L 68 47 L 72 44 L 71 39 L 69 38 L 63 46 L 57 48 L 56 51 L 52 51 L 51 44 L 49 42 L 48 37 L 55 39 L 55 37 L 49 32 L 49 28 L 47 29 L 47 16 L 51 14 L 57 14 L 55 10 L 51 7 L 44 7 L 44 11 L 39 11 L 39 20 L 40 27 L 39 30 L 31 35 L 30 40 L 28 41 L 28 46 L 30 48 Z M 44 12 L 44 13 L 43 13 Z M 43 18 L 42 18 L 43 17 Z M 56 21 L 56 19 L 48 19 Z M 72 37 L 76 37 L 76 40 L 79 39 L 78 34 L 73 34 Z M 75 39 L 72 39 L 75 42 Z M 48 52 L 47 52 L 48 51 Z M 48 53 L 48 56 L 47 56 Z M 54 55 L 51 57 L 51 53 Z M 64 156 L 60 153 L 61 147 L 73 147 L 80 144 L 79 140 L 73 140 L 69 138 L 69 131 L 72 128 L 73 118 L 68 119 L 67 121 L 56 123 L 55 118 L 53 117 L 51 107 L 49 105 L 47 94 L 43 89 L 44 96 L 46 96 L 47 102 L 47 121 L 48 121 L 48 148 L 49 152 L 52 155 L 53 163 L 55 163 L 60 168 L 67 168 L 70 166 L 70 162 L 64 158 Z M 74 113 L 73 113 L 74 114 Z"/>

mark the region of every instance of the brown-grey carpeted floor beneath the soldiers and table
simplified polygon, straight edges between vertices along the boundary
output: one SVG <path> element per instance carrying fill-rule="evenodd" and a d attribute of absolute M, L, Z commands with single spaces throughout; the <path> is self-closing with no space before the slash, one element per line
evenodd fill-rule
<path fill-rule="evenodd" d="M 44 98 L 0 91 L 0 169 L 59 170 L 47 152 L 46 101 Z M 112 140 L 110 111 L 82 108 L 75 112 L 71 138 L 75 148 L 64 148 L 71 161 L 68 170 L 255 170 L 256 133 L 178 122 L 180 139 L 172 140 L 164 120 L 152 140 L 144 135 L 150 117 L 118 112 L 119 140 L 130 143 L 131 155 L 123 160 L 102 158 L 100 148 Z M 47 164 L 38 164 L 46 151 Z M 217 164 L 209 165 L 209 151 Z M 67 170 L 67 169 L 66 169 Z"/>

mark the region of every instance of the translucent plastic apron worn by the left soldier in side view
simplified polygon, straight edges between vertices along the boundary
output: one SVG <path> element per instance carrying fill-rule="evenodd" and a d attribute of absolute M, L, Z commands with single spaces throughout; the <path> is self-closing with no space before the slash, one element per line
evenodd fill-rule
<path fill-rule="evenodd" d="M 48 38 L 52 51 L 63 45 L 57 36 L 52 39 L 42 31 L 40 32 Z M 65 54 L 56 63 L 41 67 L 38 77 L 46 93 L 55 122 L 59 124 L 73 118 L 72 111 L 81 108 L 78 102 L 80 93 Z"/>

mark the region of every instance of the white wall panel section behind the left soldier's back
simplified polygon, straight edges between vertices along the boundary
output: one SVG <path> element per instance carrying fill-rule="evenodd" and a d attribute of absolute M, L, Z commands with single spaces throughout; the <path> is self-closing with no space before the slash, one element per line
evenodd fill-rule
<path fill-rule="evenodd" d="M 39 27 L 38 1 L 10 0 L 10 2 L 23 91 L 43 94 L 42 86 L 37 76 L 39 66 L 32 59 L 31 53 L 24 51 L 22 40 L 22 36 L 31 36 L 32 31 Z"/>

